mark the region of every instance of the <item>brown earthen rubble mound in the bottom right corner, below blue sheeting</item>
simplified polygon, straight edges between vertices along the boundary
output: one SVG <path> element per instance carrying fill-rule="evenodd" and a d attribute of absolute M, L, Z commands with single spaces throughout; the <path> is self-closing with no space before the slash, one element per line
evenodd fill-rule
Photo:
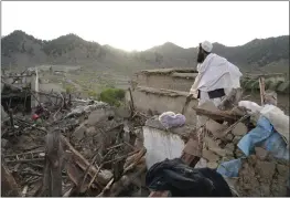
<path fill-rule="evenodd" d="M 236 180 L 236 190 L 239 196 L 281 197 L 286 196 L 289 179 L 289 164 L 277 161 L 267 156 L 267 152 L 257 147 L 256 155 L 243 160 Z"/>

